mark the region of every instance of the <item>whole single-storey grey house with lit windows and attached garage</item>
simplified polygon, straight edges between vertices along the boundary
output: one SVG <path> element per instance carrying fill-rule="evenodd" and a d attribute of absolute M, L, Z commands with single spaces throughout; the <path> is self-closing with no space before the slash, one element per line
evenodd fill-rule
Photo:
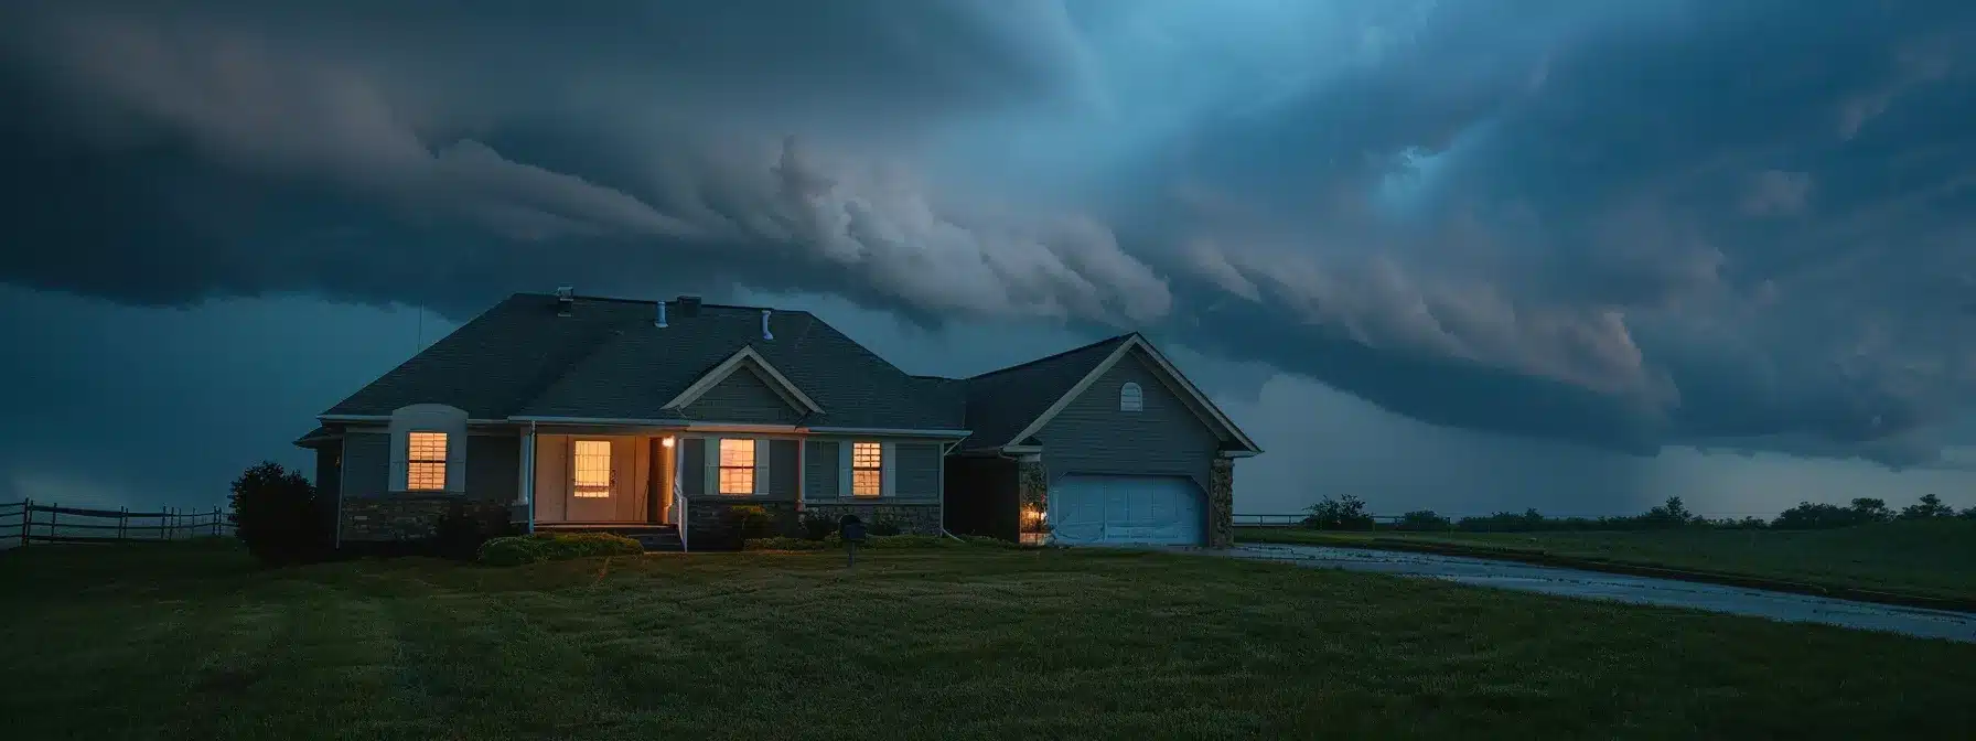
<path fill-rule="evenodd" d="M 1146 338 L 909 375 L 808 312 L 514 294 L 296 441 L 340 547 L 451 514 L 733 547 L 858 514 L 913 534 L 1225 547 L 1261 453 Z M 747 510 L 755 512 L 755 510 Z"/>

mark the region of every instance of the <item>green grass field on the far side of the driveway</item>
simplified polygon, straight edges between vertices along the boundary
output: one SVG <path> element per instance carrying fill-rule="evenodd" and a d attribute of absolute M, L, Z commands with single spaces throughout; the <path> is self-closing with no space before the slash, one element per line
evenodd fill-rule
<path fill-rule="evenodd" d="M 1701 569 L 1824 587 L 1976 599 L 1976 522 L 1889 522 L 1838 530 L 1642 530 L 1537 534 L 1237 530 L 1239 541 L 1373 545 L 1425 541 Z"/>

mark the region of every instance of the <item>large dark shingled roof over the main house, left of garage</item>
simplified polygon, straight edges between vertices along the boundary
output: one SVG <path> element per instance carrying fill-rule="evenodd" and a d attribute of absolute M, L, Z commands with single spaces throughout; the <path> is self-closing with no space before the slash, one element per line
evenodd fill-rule
<path fill-rule="evenodd" d="M 389 415 L 445 403 L 472 419 L 664 419 L 666 401 L 745 346 L 824 407 L 808 427 L 964 429 L 958 381 L 907 375 L 810 312 L 668 306 L 577 296 L 557 316 L 549 294 L 514 294 L 391 370 L 328 415 Z M 1045 403 L 1047 405 L 1047 403 Z"/>

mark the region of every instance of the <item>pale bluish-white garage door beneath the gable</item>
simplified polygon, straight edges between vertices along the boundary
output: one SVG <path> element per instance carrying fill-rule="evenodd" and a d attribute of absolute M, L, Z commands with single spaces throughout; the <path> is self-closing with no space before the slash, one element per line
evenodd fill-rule
<path fill-rule="evenodd" d="M 1201 490 L 1178 476 L 1063 476 L 1049 532 L 1063 545 L 1199 545 Z"/>

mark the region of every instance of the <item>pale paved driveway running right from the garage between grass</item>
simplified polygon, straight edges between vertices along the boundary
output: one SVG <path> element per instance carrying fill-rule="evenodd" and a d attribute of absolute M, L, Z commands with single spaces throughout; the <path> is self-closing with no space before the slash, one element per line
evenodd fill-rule
<path fill-rule="evenodd" d="M 1547 565 L 1470 559 L 1460 555 L 1373 551 L 1324 545 L 1237 545 L 1239 559 L 1282 561 L 1310 567 L 1435 577 L 1466 585 L 1523 589 L 1547 595 L 1612 599 L 1620 603 L 1688 607 L 1697 611 L 1767 617 L 1772 620 L 1824 622 L 1861 630 L 1889 630 L 1921 638 L 1976 642 L 1976 615 L 1853 603 L 1830 597 L 1788 595 L 1695 581 L 1628 577 Z"/>

